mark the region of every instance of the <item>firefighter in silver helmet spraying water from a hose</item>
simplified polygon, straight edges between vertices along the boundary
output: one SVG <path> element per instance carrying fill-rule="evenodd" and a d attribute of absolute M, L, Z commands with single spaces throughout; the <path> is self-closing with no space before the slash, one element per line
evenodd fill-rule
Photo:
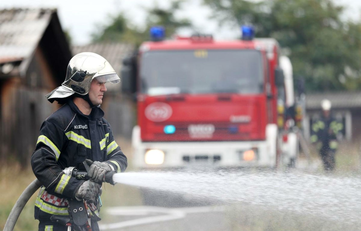
<path fill-rule="evenodd" d="M 62 85 L 45 96 L 51 103 L 64 105 L 43 122 L 31 157 L 32 170 L 43 184 L 34 213 L 39 230 L 67 230 L 64 221 L 70 217 L 70 200 L 86 202 L 91 228 L 99 230 L 99 194 L 105 174 L 123 172 L 127 167 L 127 158 L 100 108 L 106 82 L 120 82 L 109 62 L 95 53 L 83 52 L 69 61 Z M 67 167 L 84 168 L 85 159 L 92 163 L 90 180 L 64 174 Z"/>

